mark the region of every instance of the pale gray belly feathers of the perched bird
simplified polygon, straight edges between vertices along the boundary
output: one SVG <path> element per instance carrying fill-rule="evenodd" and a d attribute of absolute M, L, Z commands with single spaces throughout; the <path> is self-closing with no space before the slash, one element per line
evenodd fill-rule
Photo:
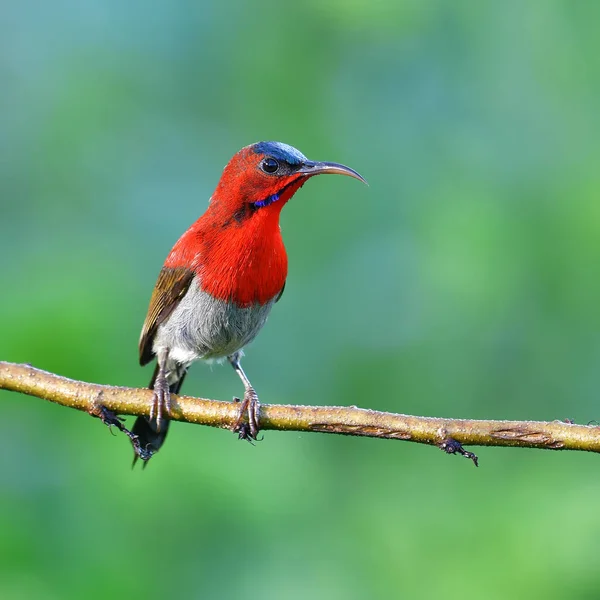
<path fill-rule="evenodd" d="M 264 305 L 237 308 L 203 292 L 196 278 L 169 318 L 160 325 L 153 350 L 169 351 L 169 359 L 188 366 L 198 358 L 230 356 L 250 343 L 275 299 Z"/>

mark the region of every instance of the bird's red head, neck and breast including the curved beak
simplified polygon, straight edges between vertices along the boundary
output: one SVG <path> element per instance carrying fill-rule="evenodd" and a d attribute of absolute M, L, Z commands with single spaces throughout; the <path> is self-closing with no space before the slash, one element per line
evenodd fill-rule
<path fill-rule="evenodd" d="M 279 215 L 314 175 L 364 179 L 338 163 L 309 161 L 280 142 L 242 148 L 227 164 L 207 211 L 171 250 L 165 266 L 193 270 L 203 290 L 240 307 L 266 304 L 283 289 L 287 254 Z"/>

